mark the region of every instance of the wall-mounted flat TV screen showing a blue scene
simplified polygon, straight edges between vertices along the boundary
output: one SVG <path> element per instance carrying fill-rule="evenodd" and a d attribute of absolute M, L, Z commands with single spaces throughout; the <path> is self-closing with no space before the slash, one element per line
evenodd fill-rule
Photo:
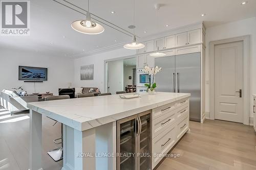
<path fill-rule="evenodd" d="M 47 68 L 18 66 L 18 80 L 47 81 Z"/>

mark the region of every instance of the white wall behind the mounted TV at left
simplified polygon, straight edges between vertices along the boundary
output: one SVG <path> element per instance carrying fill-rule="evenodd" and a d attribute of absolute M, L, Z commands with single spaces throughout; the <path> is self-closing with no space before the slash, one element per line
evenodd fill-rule
<path fill-rule="evenodd" d="M 53 92 L 58 95 L 58 88 L 68 87 L 73 82 L 73 59 L 47 56 L 20 50 L 0 49 L 0 90 L 23 86 L 28 93 L 34 92 L 34 83 L 18 80 L 18 66 L 48 68 L 48 81 L 35 83 L 36 92 Z"/>

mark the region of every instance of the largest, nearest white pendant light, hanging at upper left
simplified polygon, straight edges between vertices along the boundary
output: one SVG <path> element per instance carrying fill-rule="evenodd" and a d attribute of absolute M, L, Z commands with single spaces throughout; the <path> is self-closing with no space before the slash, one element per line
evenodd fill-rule
<path fill-rule="evenodd" d="M 99 23 L 93 22 L 91 19 L 91 13 L 89 12 L 89 0 L 88 0 L 88 12 L 86 14 L 86 20 L 76 20 L 72 22 L 71 27 L 83 34 L 100 34 L 104 32 L 104 27 Z"/>

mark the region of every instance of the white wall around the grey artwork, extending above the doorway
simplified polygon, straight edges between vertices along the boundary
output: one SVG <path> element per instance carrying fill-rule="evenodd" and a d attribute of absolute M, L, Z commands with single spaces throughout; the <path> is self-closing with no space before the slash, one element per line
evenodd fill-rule
<path fill-rule="evenodd" d="M 120 48 L 110 52 L 82 57 L 74 61 L 74 86 L 76 87 L 98 87 L 104 91 L 104 60 L 135 55 L 135 50 Z M 80 80 L 80 66 L 94 64 L 94 80 Z M 118 70 L 117 70 L 118 71 Z"/>

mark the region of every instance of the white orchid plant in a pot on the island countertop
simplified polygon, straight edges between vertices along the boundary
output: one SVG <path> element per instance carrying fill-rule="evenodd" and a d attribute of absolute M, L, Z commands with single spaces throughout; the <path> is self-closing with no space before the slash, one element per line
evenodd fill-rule
<path fill-rule="evenodd" d="M 147 87 L 147 92 L 154 92 L 157 84 L 155 83 L 156 74 L 161 71 L 162 67 L 156 66 L 155 68 L 151 68 L 148 66 L 144 67 L 144 72 L 147 73 L 150 77 L 150 83 L 144 84 Z M 153 79 L 151 79 L 153 77 Z M 152 80 L 152 81 L 151 81 Z"/>

